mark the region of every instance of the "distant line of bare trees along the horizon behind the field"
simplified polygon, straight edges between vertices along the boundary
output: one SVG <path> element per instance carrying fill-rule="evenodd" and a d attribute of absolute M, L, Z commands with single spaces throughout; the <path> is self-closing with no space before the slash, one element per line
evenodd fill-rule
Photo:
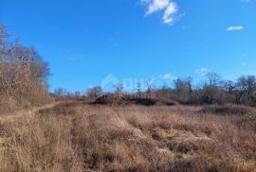
<path fill-rule="evenodd" d="M 135 96 L 137 98 L 167 98 L 176 100 L 181 104 L 242 104 L 248 106 L 256 105 L 256 77 L 241 76 L 235 80 L 226 80 L 218 74 L 210 72 L 206 79 L 194 85 L 192 77 L 176 78 L 173 86 L 162 86 L 155 88 L 154 84 L 145 80 L 146 89 L 141 89 L 141 83 L 137 83 L 134 93 L 125 93 L 121 83 L 113 85 L 115 91 L 112 94 Z M 56 89 L 53 95 L 58 97 L 76 98 L 89 97 L 97 98 L 104 93 L 101 86 L 96 86 L 87 90 L 87 92 L 70 93 L 65 89 Z M 116 96 L 119 97 L 119 96 Z"/>

